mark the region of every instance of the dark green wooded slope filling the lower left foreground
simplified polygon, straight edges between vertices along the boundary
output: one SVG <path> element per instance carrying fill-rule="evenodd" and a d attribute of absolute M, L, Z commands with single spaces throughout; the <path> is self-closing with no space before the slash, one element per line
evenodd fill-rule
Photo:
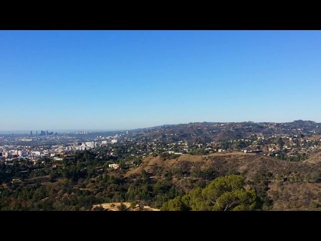
<path fill-rule="evenodd" d="M 39 167 L 45 169 L 42 161 Z M 108 168 L 114 161 L 84 151 L 53 169 L 31 170 L 26 165 L 28 171 L 21 173 L 21 165 L 1 165 L 0 210 L 90 210 L 93 204 L 133 200 L 161 207 L 182 194 L 171 178 L 152 180 L 141 172 L 134 180 L 126 179 Z"/>

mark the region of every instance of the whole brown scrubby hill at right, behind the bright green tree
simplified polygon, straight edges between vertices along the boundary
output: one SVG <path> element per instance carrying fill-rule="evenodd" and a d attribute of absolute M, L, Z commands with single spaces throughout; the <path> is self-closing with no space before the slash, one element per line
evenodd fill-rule
<path fill-rule="evenodd" d="M 242 152 L 183 155 L 166 160 L 149 156 L 141 166 L 130 169 L 124 176 L 135 178 L 142 170 L 155 179 L 172 173 L 174 185 L 186 192 L 216 176 L 241 174 L 265 200 L 267 209 L 310 210 L 321 205 L 321 165 L 309 162 L 282 161 Z"/>

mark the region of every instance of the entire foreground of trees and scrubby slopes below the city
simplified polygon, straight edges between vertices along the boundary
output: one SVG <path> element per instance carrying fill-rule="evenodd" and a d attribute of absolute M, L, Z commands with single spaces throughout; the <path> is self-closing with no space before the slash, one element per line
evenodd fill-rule
<path fill-rule="evenodd" d="M 141 157 L 121 148 L 115 149 L 118 156 L 104 155 L 99 148 L 76 152 L 60 162 L 51 158 L 39 159 L 36 165 L 28 159 L 15 160 L 13 165 L 0 162 L 0 210 L 91 210 L 99 203 L 138 201 L 162 210 L 273 210 L 284 208 L 285 203 L 287 208 L 299 208 L 302 203 L 313 209 L 321 206 L 317 198 L 321 167 L 303 164 L 304 154 L 268 158 L 243 153 L 246 160 L 242 155 L 238 160 L 238 155 L 226 153 L 194 162 L 200 159 L 194 156 L 198 151 L 189 160 L 153 153 L 150 158 L 164 166 L 145 169 Z M 169 160 L 175 165 L 168 165 Z M 130 169 L 138 168 L 137 172 L 125 175 L 130 161 L 137 163 Z M 121 170 L 109 168 L 112 163 Z"/>

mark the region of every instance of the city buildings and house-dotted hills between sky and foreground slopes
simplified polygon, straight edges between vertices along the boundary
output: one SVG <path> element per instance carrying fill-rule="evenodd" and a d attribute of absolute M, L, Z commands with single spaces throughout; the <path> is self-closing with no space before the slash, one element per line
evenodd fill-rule
<path fill-rule="evenodd" d="M 254 131 L 261 128 L 262 132 Z M 313 126 L 313 125 L 312 125 Z M 210 142 L 195 141 L 186 130 L 202 130 L 199 136 L 215 133 L 243 134 L 242 138 L 228 136 Z M 2 135 L 0 137 L 0 160 L 5 165 L 20 165 L 21 173 L 41 169 L 55 169 L 76 152 L 93 151 L 96 158 L 114 160 L 101 167 L 122 169 L 133 167 L 149 155 L 206 155 L 216 152 L 239 151 L 256 153 L 282 160 L 297 161 L 307 158 L 307 152 L 317 149 L 321 143 L 318 125 L 315 128 L 296 128 L 289 124 L 275 123 L 195 123 L 169 125 L 158 128 L 113 132 L 53 133 L 38 131 L 35 135 Z M 250 130 L 250 131 L 249 131 Z M 252 130 L 252 131 L 251 131 Z M 248 133 L 248 135 L 247 135 Z M 263 134 L 265 133 L 265 134 Z M 271 133 L 271 134 L 268 134 Z M 285 134 L 280 134 L 285 133 Z M 245 135 L 244 135 L 245 134 Z M 17 178 L 15 178 L 17 179 Z M 19 179 L 18 179 L 19 180 Z"/>

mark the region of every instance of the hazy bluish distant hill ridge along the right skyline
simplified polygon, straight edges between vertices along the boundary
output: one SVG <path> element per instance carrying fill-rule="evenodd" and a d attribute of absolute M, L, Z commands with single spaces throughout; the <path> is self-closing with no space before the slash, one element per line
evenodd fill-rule
<path fill-rule="evenodd" d="M 163 125 L 136 129 L 130 132 L 144 132 L 146 138 L 163 137 L 169 143 L 176 141 L 212 142 L 258 135 L 321 135 L 321 124 L 301 119 L 289 123 L 189 123 Z"/>

